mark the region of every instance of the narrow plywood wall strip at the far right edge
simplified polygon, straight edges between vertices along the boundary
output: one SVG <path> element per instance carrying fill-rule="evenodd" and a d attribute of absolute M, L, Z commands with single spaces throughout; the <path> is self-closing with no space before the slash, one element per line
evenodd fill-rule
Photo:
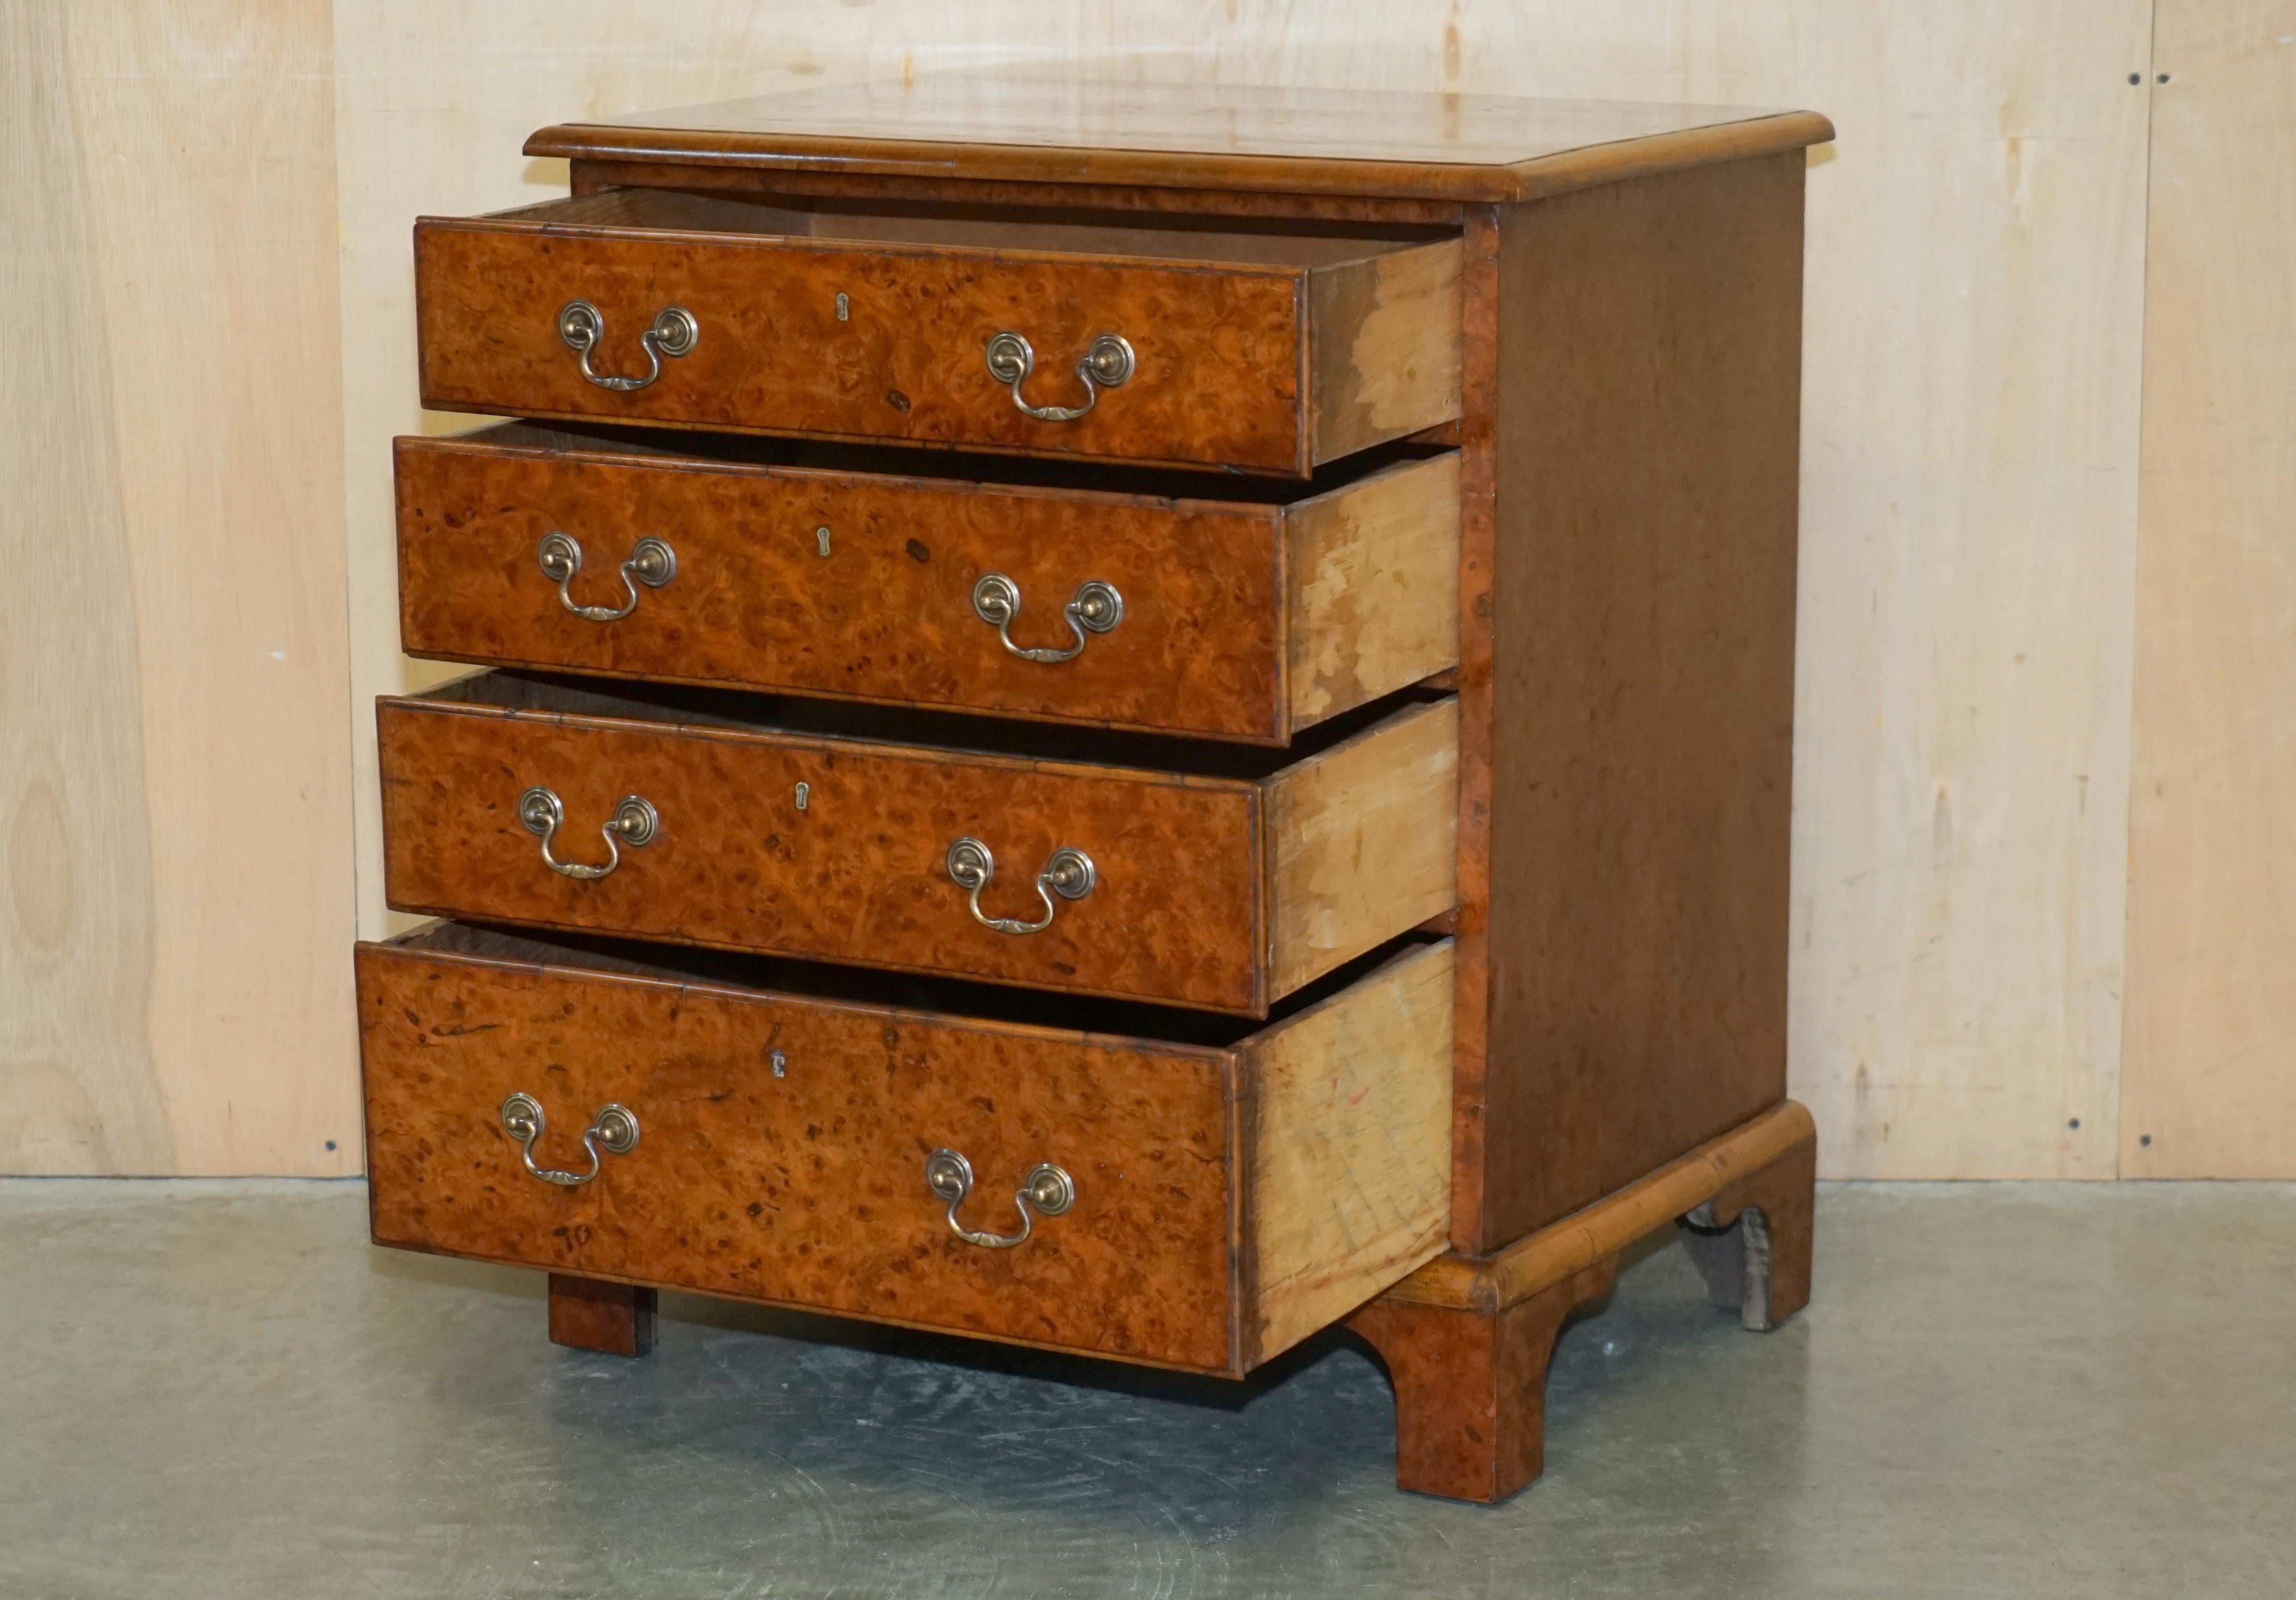
<path fill-rule="evenodd" d="M 2131 1178 L 2296 1178 L 2296 5 L 2161 0 Z"/>

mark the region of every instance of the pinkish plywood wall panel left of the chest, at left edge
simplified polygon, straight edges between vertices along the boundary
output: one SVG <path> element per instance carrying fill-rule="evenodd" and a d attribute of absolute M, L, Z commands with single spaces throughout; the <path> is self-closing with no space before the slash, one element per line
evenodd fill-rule
<path fill-rule="evenodd" d="M 0 1171 L 354 1171 L 328 7 L 0 18 Z"/>

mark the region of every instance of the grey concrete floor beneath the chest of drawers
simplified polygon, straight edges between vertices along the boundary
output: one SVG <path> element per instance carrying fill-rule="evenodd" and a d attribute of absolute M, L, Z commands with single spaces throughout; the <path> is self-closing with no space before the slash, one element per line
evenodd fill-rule
<path fill-rule="evenodd" d="M 358 1185 L 0 1182 L 0 1595 L 2289 1595 L 2296 1187 L 1837 1187 L 1816 1304 L 1678 1246 L 1548 1476 L 1398 1494 L 1325 1336 L 1231 1387 L 377 1251 Z"/>

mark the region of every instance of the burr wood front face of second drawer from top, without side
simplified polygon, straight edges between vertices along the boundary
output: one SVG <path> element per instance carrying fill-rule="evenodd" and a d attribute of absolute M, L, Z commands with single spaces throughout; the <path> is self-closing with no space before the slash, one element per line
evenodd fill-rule
<path fill-rule="evenodd" d="M 1274 739 L 1283 728 L 1277 507 L 1171 510 L 859 473 L 400 441 L 406 650 L 978 712 Z M 629 615 L 574 615 L 542 539 L 583 551 L 576 604 L 631 599 L 638 539 L 675 556 Z M 1003 574 L 1006 636 L 974 608 Z M 1114 627 L 1070 627 L 1086 583 Z M 1079 611 L 1079 618 L 1084 613 Z M 1097 620 L 1095 620 L 1097 622 Z"/>

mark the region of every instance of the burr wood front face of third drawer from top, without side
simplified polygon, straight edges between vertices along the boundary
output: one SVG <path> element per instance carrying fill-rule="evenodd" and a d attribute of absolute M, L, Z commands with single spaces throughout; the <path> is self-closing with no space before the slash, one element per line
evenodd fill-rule
<path fill-rule="evenodd" d="M 379 735 L 386 891 L 406 911 L 1265 1010 L 1251 783 L 439 700 L 381 702 Z M 604 863 L 629 794 L 659 831 L 602 879 L 565 877 L 521 822 L 533 785 L 563 803 L 560 861 Z M 962 838 L 992 859 L 983 914 L 1049 909 L 1047 927 L 974 918 L 948 875 Z M 1035 888 L 1058 849 L 1091 859 L 1088 895 Z"/>

